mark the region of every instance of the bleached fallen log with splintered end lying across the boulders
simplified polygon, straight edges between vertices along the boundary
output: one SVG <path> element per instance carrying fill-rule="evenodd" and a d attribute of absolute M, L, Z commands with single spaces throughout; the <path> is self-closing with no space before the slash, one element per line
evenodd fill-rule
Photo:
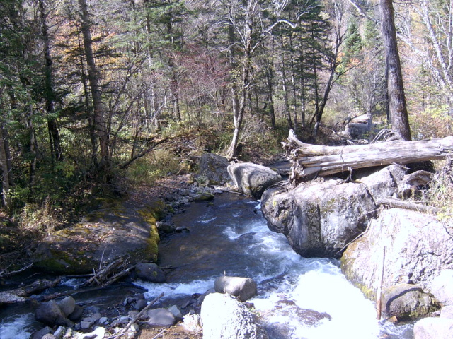
<path fill-rule="evenodd" d="M 422 141 L 389 141 L 371 145 L 323 146 L 299 141 L 289 131 L 290 179 L 326 176 L 352 169 L 445 159 L 453 153 L 453 136 Z"/>

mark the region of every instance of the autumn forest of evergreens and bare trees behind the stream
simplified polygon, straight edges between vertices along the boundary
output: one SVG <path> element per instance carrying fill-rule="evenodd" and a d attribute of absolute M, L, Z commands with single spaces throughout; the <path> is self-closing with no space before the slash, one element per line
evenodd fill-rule
<path fill-rule="evenodd" d="M 395 128 L 391 17 L 406 140 L 452 135 L 451 1 L 2 0 L 0 13 L 1 251 L 13 230 L 50 232 L 203 152 L 263 159 L 289 129 L 322 144 L 363 114 L 365 138 Z"/>

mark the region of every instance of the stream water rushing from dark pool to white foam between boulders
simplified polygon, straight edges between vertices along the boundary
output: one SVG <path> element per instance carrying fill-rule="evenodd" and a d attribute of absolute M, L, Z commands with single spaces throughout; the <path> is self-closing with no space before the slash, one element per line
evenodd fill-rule
<path fill-rule="evenodd" d="M 374 303 L 345 279 L 338 261 L 302 258 L 282 234 L 270 232 L 256 201 L 224 194 L 213 203 L 193 204 L 173 220 L 190 232 L 161 242 L 161 266 L 174 269 L 168 273 L 167 283 L 139 283 L 147 288 L 149 299 L 161 292 L 164 298 L 203 293 L 219 275 L 242 276 L 258 284 L 258 297 L 249 302 L 267 314 L 265 325 L 271 336 L 278 333 L 273 335 L 275 339 L 413 338 L 410 325 L 376 320 Z M 301 309 L 325 312 L 331 320 L 307 326 L 281 302 L 275 309 L 282 300 Z"/>

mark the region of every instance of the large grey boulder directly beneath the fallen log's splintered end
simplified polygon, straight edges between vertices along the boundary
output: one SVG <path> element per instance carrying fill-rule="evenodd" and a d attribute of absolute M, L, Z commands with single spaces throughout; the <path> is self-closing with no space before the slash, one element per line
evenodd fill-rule
<path fill-rule="evenodd" d="M 340 179 L 306 182 L 295 189 L 271 187 L 261 201 L 270 230 L 285 234 L 304 257 L 339 257 L 377 209 L 365 184 Z"/>

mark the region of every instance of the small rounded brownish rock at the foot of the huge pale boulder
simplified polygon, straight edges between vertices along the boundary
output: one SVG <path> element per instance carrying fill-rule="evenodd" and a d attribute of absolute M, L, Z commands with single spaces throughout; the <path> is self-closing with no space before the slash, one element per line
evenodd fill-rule
<path fill-rule="evenodd" d="M 420 319 L 439 308 L 437 302 L 417 285 L 397 284 L 382 291 L 382 311 L 398 321 Z"/>

